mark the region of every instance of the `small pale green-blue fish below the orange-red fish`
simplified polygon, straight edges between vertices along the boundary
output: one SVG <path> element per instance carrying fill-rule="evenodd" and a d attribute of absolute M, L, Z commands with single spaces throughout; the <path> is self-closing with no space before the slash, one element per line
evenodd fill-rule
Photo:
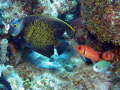
<path fill-rule="evenodd" d="M 96 72 L 105 72 L 105 71 L 107 71 L 108 68 L 110 68 L 110 67 L 113 68 L 113 64 L 110 64 L 107 61 L 99 61 L 99 62 L 97 62 L 96 64 L 93 65 L 93 69 Z"/>

